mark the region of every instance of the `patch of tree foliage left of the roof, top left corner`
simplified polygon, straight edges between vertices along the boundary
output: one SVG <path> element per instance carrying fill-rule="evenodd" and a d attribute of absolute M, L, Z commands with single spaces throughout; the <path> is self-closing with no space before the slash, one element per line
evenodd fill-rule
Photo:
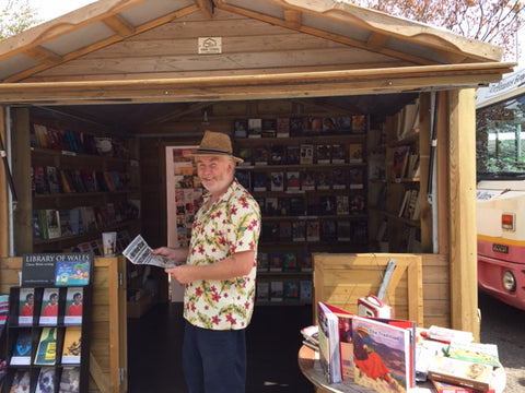
<path fill-rule="evenodd" d="M 35 15 L 35 10 L 27 0 L 8 0 L 3 9 L 0 9 L 0 39 L 40 23 Z"/>

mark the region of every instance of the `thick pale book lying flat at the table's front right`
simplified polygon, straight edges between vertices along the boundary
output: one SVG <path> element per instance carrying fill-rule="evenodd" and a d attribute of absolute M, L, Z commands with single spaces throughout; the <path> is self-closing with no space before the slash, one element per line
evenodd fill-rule
<path fill-rule="evenodd" d="M 447 382 L 479 391 L 488 391 L 492 380 L 490 365 L 455 359 L 438 355 L 431 361 L 427 374 L 434 381 Z"/>

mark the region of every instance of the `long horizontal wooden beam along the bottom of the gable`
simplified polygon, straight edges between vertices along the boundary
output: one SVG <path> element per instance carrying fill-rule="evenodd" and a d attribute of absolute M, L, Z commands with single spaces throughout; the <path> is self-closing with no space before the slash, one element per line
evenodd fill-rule
<path fill-rule="evenodd" d="M 0 103 L 196 102 L 477 87 L 510 71 L 510 63 L 405 67 L 139 81 L 0 84 Z"/>

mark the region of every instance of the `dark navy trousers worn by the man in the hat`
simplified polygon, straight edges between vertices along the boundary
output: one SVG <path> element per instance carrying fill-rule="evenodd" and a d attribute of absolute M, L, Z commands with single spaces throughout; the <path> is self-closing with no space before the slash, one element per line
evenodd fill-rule
<path fill-rule="evenodd" d="M 213 331 L 185 321 L 183 371 L 188 393 L 244 393 L 244 329 Z"/>

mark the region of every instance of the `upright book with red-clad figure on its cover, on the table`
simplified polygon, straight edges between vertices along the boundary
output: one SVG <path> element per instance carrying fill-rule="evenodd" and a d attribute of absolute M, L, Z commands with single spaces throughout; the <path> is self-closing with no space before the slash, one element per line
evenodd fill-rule
<path fill-rule="evenodd" d="M 352 340 L 355 383 L 385 393 L 412 386 L 409 330 L 355 315 Z"/>

